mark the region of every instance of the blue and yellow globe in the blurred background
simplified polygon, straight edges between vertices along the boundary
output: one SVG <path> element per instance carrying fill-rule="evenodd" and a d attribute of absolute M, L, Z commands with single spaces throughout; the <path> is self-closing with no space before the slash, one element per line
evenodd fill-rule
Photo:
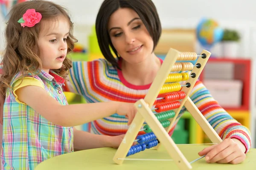
<path fill-rule="evenodd" d="M 215 20 L 204 18 L 197 28 L 196 35 L 202 46 L 211 47 L 222 40 L 224 30 L 219 27 Z"/>

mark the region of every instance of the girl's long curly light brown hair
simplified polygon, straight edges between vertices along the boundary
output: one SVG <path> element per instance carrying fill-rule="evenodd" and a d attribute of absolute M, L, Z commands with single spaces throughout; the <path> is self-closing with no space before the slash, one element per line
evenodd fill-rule
<path fill-rule="evenodd" d="M 39 58 L 38 35 L 41 29 L 41 22 L 33 27 L 22 27 L 17 21 L 23 16 L 28 9 L 35 9 L 41 13 L 42 20 L 52 20 L 59 16 L 67 18 L 70 25 L 69 36 L 67 37 L 67 53 L 74 48 L 77 42 L 73 36 L 73 23 L 65 8 L 55 3 L 44 0 L 32 0 L 16 4 L 9 12 L 5 37 L 6 49 L 3 54 L 3 75 L 0 78 L 0 92 L 3 96 L 6 89 L 10 87 L 12 78 L 21 72 L 23 77 L 31 73 L 34 75 L 41 71 L 42 63 Z M 68 70 L 72 67 L 70 59 L 65 58 L 63 66 L 60 69 L 54 69 L 63 78 L 67 78 Z"/>

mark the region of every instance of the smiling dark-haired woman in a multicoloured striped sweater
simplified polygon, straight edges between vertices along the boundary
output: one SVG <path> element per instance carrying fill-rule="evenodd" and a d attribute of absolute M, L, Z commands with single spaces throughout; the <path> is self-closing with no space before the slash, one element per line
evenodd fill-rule
<path fill-rule="evenodd" d="M 96 32 L 105 59 L 73 62 L 65 90 L 83 95 L 88 103 L 110 100 L 134 103 L 144 98 L 163 62 L 154 54 L 161 35 L 154 3 L 104 0 L 96 18 Z M 190 98 L 223 139 L 221 144 L 207 147 L 199 155 L 206 155 L 207 162 L 244 161 L 251 145 L 249 130 L 219 106 L 201 81 L 195 84 Z M 177 121 L 185 111 L 181 110 Z M 114 114 L 91 122 L 90 132 L 121 135 L 128 130 L 126 123 L 124 116 Z M 173 129 L 170 135 L 172 132 Z"/>

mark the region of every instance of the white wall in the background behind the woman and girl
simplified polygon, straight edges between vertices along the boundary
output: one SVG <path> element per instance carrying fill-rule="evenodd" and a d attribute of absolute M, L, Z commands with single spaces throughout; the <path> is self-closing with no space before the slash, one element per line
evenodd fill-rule
<path fill-rule="evenodd" d="M 94 24 L 103 0 L 52 0 L 69 9 L 75 23 L 75 35 L 87 45 L 90 26 Z M 256 55 L 255 0 L 152 0 L 157 7 L 163 28 L 195 28 L 202 17 L 213 18 L 220 26 L 238 29 L 242 35 L 240 55 Z M 3 18 L 0 17 L 0 32 Z M 0 50 L 3 37 L 0 33 Z"/>

